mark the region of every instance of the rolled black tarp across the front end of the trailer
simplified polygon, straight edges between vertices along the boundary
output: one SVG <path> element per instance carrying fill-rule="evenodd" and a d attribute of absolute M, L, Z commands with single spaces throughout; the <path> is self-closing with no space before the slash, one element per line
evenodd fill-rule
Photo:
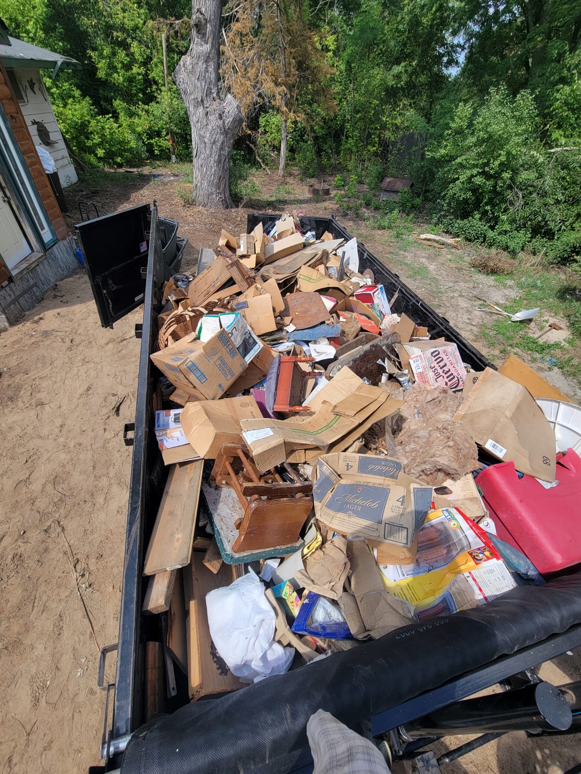
<path fill-rule="evenodd" d="M 523 586 L 483 607 L 409 625 L 136 731 L 122 774 L 284 774 L 311 761 L 320 707 L 351 728 L 378 712 L 581 623 L 581 574 Z"/>

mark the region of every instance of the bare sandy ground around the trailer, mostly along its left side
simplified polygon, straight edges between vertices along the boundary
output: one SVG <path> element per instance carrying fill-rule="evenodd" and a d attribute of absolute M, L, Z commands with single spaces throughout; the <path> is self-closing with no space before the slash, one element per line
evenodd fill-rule
<path fill-rule="evenodd" d="M 135 178 L 121 188 L 78 189 L 70 194 L 70 209 L 75 197 L 96 200 L 101 214 L 156 198 L 160 214 L 180 221 L 180 234 L 191 241 L 186 269 L 194 265 L 194 247 L 215 244 L 220 228 L 245 230 L 248 210 L 184 207 L 175 189 L 176 180 L 168 177 Z M 332 206 L 310 204 L 308 211 L 328 215 Z M 356 230 L 357 224 L 343 222 Z M 402 265 L 382 239 L 371 235 L 366 244 L 435 306 L 442 286 L 455 293 L 459 303 L 445 316 L 473 337 L 475 327 L 461 301 L 473 281 L 466 275 L 462 285 L 462 268 L 443 260 L 445 251 L 414 252 Z M 413 271 L 414 265 L 436 260 L 438 287 Z M 493 291 L 491 281 L 482 283 Z M 131 462 L 122 428 L 135 411 L 139 341 L 133 327 L 141 315 L 137 309 L 115 323 L 115 330 L 101 328 L 88 279 L 79 273 L 58 283 L 19 324 L 0 334 L 2 772 L 86 772 L 99 762 L 105 695 L 96 687 L 98 650 L 77 587 L 98 645 L 115 642 Z M 579 680 L 581 658 L 561 656 L 542 669 L 555 684 Z M 441 741 L 436 752 L 463 741 Z M 531 740 L 518 733 L 444 771 L 562 774 L 581 759 L 580 746 L 579 735 Z"/>

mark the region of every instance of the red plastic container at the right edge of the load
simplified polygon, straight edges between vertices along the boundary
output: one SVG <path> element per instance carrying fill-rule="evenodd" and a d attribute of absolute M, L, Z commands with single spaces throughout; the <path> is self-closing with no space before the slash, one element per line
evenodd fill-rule
<path fill-rule="evenodd" d="M 557 454 L 556 480 L 545 488 L 518 478 L 514 462 L 491 465 L 476 476 L 501 540 L 521 550 L 542 574 L 581 562 L 581 459 Z"/>

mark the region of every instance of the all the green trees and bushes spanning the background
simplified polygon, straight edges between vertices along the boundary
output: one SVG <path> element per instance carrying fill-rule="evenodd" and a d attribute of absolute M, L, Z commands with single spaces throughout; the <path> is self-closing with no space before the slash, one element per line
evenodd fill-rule
<path fill-rule="evenodd" d="M 261 3 L 256 13 L 252 2 L 228 5 L 225 36 L 238 29 L 244 5 L 252 39 Z M 289 162 L 305 177 L 339 173 L 339 201 L 357 210 L 356 183 L 376 191 L 386 174 L 411 176 L 414 193 L 397 205 L 401 216 L 366 197 L 378 222 L 407 224 L 421 208 L 453 235 L 579 265 L 579 0 L 280 0 L 280 8 L 293 25 L 285 33 L 295 68 Z M 189 31 L 187 22 L 163 19 L 190 14 L 188 0 L 0 0 L 13 35 L 83 63 L 80 72 L 60 73 L 50 94 L 74 152 L 92 165 L 167 159 L 170 125 L 187 159 L 184 105 L 173 84 L 168 98 L 163 86 L 161 32 L 171 72 Z M 297 30 L 315 41 L 318 70 Z M 251 59 L 248 39 L 244 45 Z M 275 83 L 277 46 L 260 57 Z M 234 155 L 239 198 L 249 195 L 248 142 L 268 166 L 277 166 L 280 149 L 277 101 L 248 99 Z"/>

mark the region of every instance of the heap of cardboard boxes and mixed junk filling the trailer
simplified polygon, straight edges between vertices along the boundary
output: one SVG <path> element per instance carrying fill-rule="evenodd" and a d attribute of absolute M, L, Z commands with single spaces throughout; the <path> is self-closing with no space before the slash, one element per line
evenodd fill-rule
<path fill-rule="evenodd" d="M 397 583 L 449 550 L 439 511 L 452 528 L 490 527 L 479 456 L 552 485 L 555 433 L 535 398 L 566 399 L 517 358 L 472 372 L 456 343 L 432 339 L 359 272 L 356 240 L 305 233 L 296 214 L 269 233 L 222 231 L 214 252 L 198 276 L 167 283 L 151 355 L 170 471 L 143 609 L 165 617 L 166 667 L 184 670 L 192 700 L 242 687 L 212 642 L 205 596 L 249 567 L 269 589 L 273 641 L 299 663 L 433 611 Z M 481 557 L 497 563 L 495 594 L 507 591 L 487 533 L 464 533 L 469 556 L 445 591 Z M 495 595 L 462 594 L 469 605 Z"/>

